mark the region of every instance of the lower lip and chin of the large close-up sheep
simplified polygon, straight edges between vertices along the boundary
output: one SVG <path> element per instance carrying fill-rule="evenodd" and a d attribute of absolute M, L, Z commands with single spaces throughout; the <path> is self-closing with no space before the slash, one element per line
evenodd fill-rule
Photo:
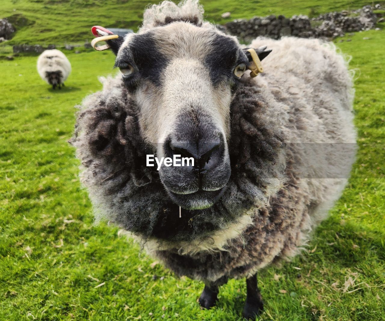
<path fill-rule="evenodd" d="M 216 191 L 199 190 L 189 194 L 176 194 L 167 190 L 171 200 L 185 210 L 204 210 L 213 206 L 226 190 L 226 186 Z"/>

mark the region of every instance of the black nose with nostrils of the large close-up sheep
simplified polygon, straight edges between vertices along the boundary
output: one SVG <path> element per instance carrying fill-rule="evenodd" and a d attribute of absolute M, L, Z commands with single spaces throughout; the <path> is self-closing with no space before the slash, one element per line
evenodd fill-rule
<path fill-rule="evenodd" d="M 170 147 L 172 154 L 181 157 L 194 158 L 194 167 L 204 169 L 210 165 L 215 165 L 218 161 L 218 153 L 221 149 L 221 138 L 217 137 L 210 141 L 186 141 L 171 138 Z"/>

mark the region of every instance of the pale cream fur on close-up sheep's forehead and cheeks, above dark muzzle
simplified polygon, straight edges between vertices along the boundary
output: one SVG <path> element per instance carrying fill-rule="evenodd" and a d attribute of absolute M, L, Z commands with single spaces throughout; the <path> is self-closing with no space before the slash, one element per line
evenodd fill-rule
<path fill-rule="evenodd" d="M 157 27 L 137 37 L 141 37 L 140 41 L 131 37 L 131 44 L 141 44 L 142 55 L 150 51 L 156 55 L 148 65 L 156 70 L 159 77 L 155 83 L 151 79 L 142 79 L 141 85 L 134 91 L 134 98 L 140 107 L 142 133 L 147 141 L 164 141 L 175 128 L 179 113 L 198 106 L 212 116 L 213 124 L 228 138 L 233 83 L 230 77 L 233 76 L 232 64 L 235 66 L 237 63 L 238 43 L 232 37 L 218 35 L 214 30 L 183 22 Z M 221 57 L 221 41 L 226 54 L 230 52 L 224 58 Z M 136 50 L 130 48 L 129 51 L 135 56 Z M 228 69 L 225 77 L 215 77 L 216 83 L 213 75 L 218 71 L 210 68 L 210 60 L 215 58 L 213 50 L 218 50 L 218 59 L 224 61 L 221 67 Z M 140 62 L 137 64 L 140 65 Z"/>

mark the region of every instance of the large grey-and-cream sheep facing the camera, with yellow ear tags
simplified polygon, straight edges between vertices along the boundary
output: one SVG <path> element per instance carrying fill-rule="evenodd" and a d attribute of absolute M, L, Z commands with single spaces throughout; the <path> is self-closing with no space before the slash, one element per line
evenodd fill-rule
<path fill-rule="evenodd" d="M 356 131 L 345 58 L 316 39 L 241 45 L 204 22 L 195 0 L 153 5 L 136 34 L 106 42 L 121 74 L 85 98 L 70 141 L 96 220 L 121 226 L 177 276 L 203 281 L 203 308 L 228 279 L 246 277 L 243 315 L 255 318 L 257 272 L 303 249 L 349 177 Z M 264 73 L 249 77 L 255 54 Z M 151 154 L 196 163 L 157 171 L 146 166 Z"/>

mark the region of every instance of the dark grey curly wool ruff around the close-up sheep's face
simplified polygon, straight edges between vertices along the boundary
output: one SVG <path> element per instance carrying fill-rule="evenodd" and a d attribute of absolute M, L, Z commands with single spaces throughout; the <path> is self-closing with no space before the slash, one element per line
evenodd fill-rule
<path fill-rule="evenodd" d="M 142 140 L 137 106 L 122 80 L 114 90 L 95 93 L 80 106 L 70 143 L 84 166 L 83 182 L 94 203 L 127 231 L 146 239 L 188 241 L 226 228 L 246 210 L 268 202 L 272 180 L 282 181 L 285 170 L 285 134 L 276 110 L 260 95 L 251 80 L 243 79 L 231 105 L 228 142 L 231 177 L 214 206 L 182 210 L 169 200 L 146 154 L 154 146 Z M 92 103 L 90 103 L 92 101 Z M 241 102 L 241 103 L 240 103 Z"/>

